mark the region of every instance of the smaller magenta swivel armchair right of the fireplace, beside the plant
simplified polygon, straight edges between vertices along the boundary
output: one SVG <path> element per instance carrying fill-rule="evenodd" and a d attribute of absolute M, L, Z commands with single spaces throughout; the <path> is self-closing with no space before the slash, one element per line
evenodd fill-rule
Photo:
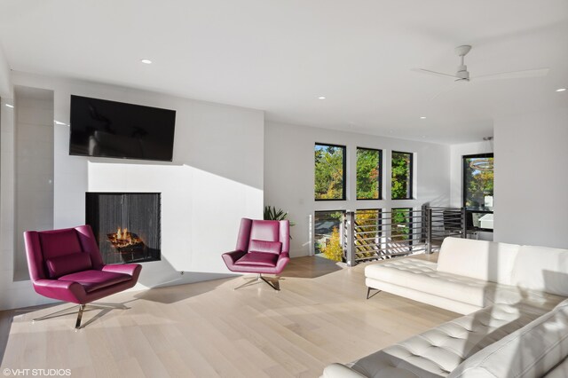
<path fill-rule="evenodd" d="M 263 274 L 280 274 L 290 257 L 290 224 L 287 220 L 241 219 L 237 248 L 223 254 L 223 261 L 231 272 L 256 273 L 254 280 L 245 282 L 240 287 L 254 281 L 264 281 L 274 290 L 280 290 L 278 281 L 272 283 Z M 235 287 L 235 290 L 240 287 Z"/>

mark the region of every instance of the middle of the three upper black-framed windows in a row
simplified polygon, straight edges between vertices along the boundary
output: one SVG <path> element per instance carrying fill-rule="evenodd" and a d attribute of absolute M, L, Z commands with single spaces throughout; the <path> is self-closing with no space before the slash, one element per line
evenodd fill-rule
<path fill-rule="evenodd" d="M 381 199 L 383 151 L 357 148 L 357 199 Z"/>

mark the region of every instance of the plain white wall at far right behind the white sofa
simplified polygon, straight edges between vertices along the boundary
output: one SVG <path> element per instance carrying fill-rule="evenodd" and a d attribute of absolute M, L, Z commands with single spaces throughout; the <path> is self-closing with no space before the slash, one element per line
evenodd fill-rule
<path fill-rule="evenodd" d="M 494 240 L 568 248 L 568 108 L 498 118 Z"/>

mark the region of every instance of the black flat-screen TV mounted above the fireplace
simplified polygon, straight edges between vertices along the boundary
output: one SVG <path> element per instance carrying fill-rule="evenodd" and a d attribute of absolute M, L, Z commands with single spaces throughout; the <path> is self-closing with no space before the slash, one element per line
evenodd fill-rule
<path fill-rule="evenodd" d="M 69 154 L 171 161 L 176 111 L 71 95 Z"/>

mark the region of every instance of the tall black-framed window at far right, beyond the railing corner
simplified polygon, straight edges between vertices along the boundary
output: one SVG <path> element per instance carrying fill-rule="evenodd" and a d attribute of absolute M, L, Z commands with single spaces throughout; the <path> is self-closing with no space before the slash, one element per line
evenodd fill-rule
<path fill-rule="evenodd" d="M 463 156 L 463 206 L 468 227 L 493 230 L 493 154 Z"/>

